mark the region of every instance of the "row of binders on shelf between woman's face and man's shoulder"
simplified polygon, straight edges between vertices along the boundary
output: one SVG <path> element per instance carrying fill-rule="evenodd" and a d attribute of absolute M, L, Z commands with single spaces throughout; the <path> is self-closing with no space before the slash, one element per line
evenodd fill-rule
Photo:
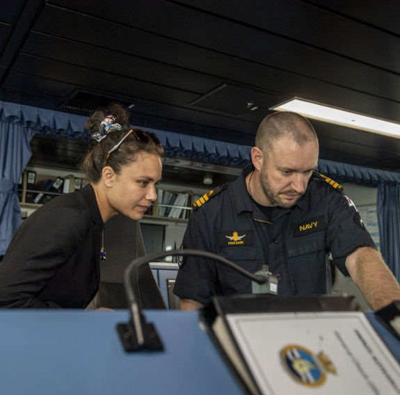
<path fill-rule="evenodd" d="M 159 189 L 156 215 L 168 218 L 189 218 L 192 198 L 191 191 L 170 192 Z"/>

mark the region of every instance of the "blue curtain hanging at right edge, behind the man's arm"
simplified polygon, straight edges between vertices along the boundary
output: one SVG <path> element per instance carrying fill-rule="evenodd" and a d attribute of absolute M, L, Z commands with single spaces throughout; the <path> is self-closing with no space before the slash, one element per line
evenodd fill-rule
<path fill-rule="evenodd" d="M 400 282 L 400 207 L 399 185 L 378 185 L 378 225 L 381 252 L 387 266 Z"/>

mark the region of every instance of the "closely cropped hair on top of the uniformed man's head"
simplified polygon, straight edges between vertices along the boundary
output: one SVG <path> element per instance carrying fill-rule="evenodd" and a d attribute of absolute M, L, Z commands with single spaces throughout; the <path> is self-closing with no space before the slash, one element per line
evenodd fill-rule
<path fill-rule="evenodd" d="M 282 111 L 268 115 L 259 124 L 255 145 L 268 154 L 275 141 L 282 137 L 292 138 L 300 146 L 310 141 L 318 144 L 317 134 L 308 120 L 298 113 Z"/>

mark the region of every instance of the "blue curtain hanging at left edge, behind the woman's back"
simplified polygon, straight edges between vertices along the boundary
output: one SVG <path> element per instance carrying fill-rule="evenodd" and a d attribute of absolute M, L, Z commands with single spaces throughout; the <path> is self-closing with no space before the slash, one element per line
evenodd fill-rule
<path fill-rule="evenodd" d="M 0 120 L 0 255 L 21 223 L 17 186 L 31 158 L 29 141 L 35 134 L 21 124 Z"/>

